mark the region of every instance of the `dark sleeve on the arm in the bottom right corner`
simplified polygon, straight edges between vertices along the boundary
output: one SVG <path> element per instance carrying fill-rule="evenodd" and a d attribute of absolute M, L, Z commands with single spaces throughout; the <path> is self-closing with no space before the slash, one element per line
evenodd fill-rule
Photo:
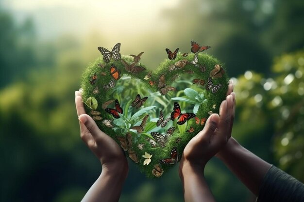
<path fill-rule="evenodd" d="M 304 184 L 272 165 L 256 202 L 304 202 Z"/>

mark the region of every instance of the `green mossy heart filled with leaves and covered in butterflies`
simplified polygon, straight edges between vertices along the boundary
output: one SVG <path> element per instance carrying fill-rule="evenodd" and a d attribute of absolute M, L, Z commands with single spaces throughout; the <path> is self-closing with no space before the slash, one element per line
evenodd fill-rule
<path fill-rule="evenodd" d="M 151 178 L 179 161 L 208 116 L 219 112 L 228 88 L 227 74 L 212 56 L 166 51 L 172 60 L 155 71 L 140 63 L 143 52 L 112 56 L 113 62 L 109 52 L 107 62 L 103 55 L 82 76 L 87 114 Z"/>

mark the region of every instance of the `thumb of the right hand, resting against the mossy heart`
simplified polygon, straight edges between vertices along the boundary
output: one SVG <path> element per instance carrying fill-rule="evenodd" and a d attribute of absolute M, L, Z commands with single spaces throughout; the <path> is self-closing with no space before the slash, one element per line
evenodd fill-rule
<path fill-rule="evenodd" d="M 206 121 L 206 124 L 201 132 L 197 134 L 198 141 L 210 140 L 214 131 L 220 122 L 220 116 L 218 114 L 211 114 Z"/>

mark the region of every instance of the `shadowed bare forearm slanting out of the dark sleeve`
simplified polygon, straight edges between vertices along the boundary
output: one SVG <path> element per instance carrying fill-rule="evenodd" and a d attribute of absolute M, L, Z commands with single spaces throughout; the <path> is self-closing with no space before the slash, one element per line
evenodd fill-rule
<path fill-rule="evenodd" d="M 233 138 L 217 156 L 254 195 L 258 195 L 263 178 L 271 166 L 269 163 L 242 147 Z"/>

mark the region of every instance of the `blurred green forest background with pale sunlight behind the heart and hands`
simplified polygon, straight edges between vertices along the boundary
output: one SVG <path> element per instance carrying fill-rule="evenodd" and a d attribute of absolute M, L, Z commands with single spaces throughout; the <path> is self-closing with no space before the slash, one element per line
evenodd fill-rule
<path fill-rule="evenodd" d="M 212 46 L 236 85 L 233 137 L 304 182 L 304 1 L 0 0 L 0 201 L 77 202 L 101 165 L 80 139 L 74 91 L 97 47 Z M 219 202 L 254 202 L 218 160 L 205 170 Z M 177 166 L 150 180 L 130 162 L 121 202 L 184 201 Z"/>

